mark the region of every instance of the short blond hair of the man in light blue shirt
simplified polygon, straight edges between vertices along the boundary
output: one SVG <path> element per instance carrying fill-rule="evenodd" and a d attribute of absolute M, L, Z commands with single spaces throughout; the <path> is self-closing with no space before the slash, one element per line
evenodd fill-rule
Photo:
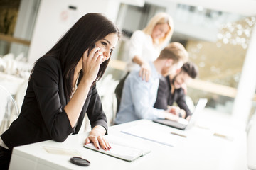
<path fill-rule="evenodd" d="M 158 59 L 172 59 L 174 63 L 188 61 L 188 52 L 179 42 L 171 42 L 161 50 Z"/>

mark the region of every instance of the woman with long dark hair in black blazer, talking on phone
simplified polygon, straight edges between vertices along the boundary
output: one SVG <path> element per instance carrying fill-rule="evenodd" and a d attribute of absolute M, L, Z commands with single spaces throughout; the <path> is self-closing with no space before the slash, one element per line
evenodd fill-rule
<path fill-rule="evenodd" d="M 8 169 L 11 150 L 43 140 L 63 142 L 78 133 L 87 113 L 92 126 L 85 143 L 107 150 L 107 118 L 96 81 L 104 74 L 119 30 L 99 13 L 87 13 L 36 61 L 21 113 L 0 138 L 0 169 Z"/>

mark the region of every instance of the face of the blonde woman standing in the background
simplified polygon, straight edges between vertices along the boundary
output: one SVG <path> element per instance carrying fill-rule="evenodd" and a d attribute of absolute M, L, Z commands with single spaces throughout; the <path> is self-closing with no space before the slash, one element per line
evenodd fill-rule
<path fill-rule="evenodd" d="M 159 23 L 153 29 L 151 37 L 154 41 L 163 38 L 170 30 L 170 26 L 168 23 Z"/>

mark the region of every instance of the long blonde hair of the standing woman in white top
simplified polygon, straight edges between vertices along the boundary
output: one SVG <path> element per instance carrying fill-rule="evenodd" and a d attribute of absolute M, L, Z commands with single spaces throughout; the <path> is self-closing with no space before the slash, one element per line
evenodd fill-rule
<path fill-rule="evenodd" d="M 169 42 L 171 39 L 171 35 L 174 33 L 174 21 L 172 20 L 171 16 L 167 13 L 156 13 L 156 15 L 151 18 L 147 26 L 142 30 L 144 33 L 151 35 L 153 33 L 154 27 L 157 24 L 162 24 L 162 23 L 168 23 L 170 30 L 166 35 L 159 40 L 159 44 L 157 45 L 158 47 L 161 47 L 165 43 Z"/>

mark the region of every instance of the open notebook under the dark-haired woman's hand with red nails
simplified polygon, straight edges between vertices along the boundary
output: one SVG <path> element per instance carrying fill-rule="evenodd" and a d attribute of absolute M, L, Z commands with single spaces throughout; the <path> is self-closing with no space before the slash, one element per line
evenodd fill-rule
<path fill-rule="evenodd" d="M 102 148 L 96 149 L 95 145 L 93 145 L 92 143 L 84 145 L 84 147 L 95 150 L 97 152 L 101 152 L 102 154 L 107 154 L 112 157 L 123 159 L 128 162 L 132 162 L 135 159 L 151 152 L 151 149 L 146 145 L 138 143 L 135 145 L 130 140 L 124 140 L 120 137 L 115 137 L 114 135 L 106 135 L 105 138 L 108 142 L 110 142 L 110 150 L 105 151 Z"/>

